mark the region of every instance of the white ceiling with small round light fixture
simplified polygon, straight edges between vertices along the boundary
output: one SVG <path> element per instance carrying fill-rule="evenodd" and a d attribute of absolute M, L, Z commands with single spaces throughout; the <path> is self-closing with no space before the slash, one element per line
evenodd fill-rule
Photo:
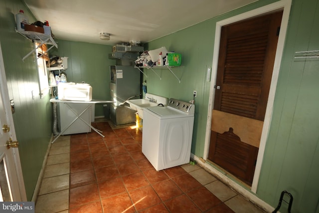
<path fill-rule="evenodd" d="M 256 0 L 24 0 L 56 38 L 99 44 L 146 43 Z M 109 41 L 100 32 L 111 34 Z"/>

